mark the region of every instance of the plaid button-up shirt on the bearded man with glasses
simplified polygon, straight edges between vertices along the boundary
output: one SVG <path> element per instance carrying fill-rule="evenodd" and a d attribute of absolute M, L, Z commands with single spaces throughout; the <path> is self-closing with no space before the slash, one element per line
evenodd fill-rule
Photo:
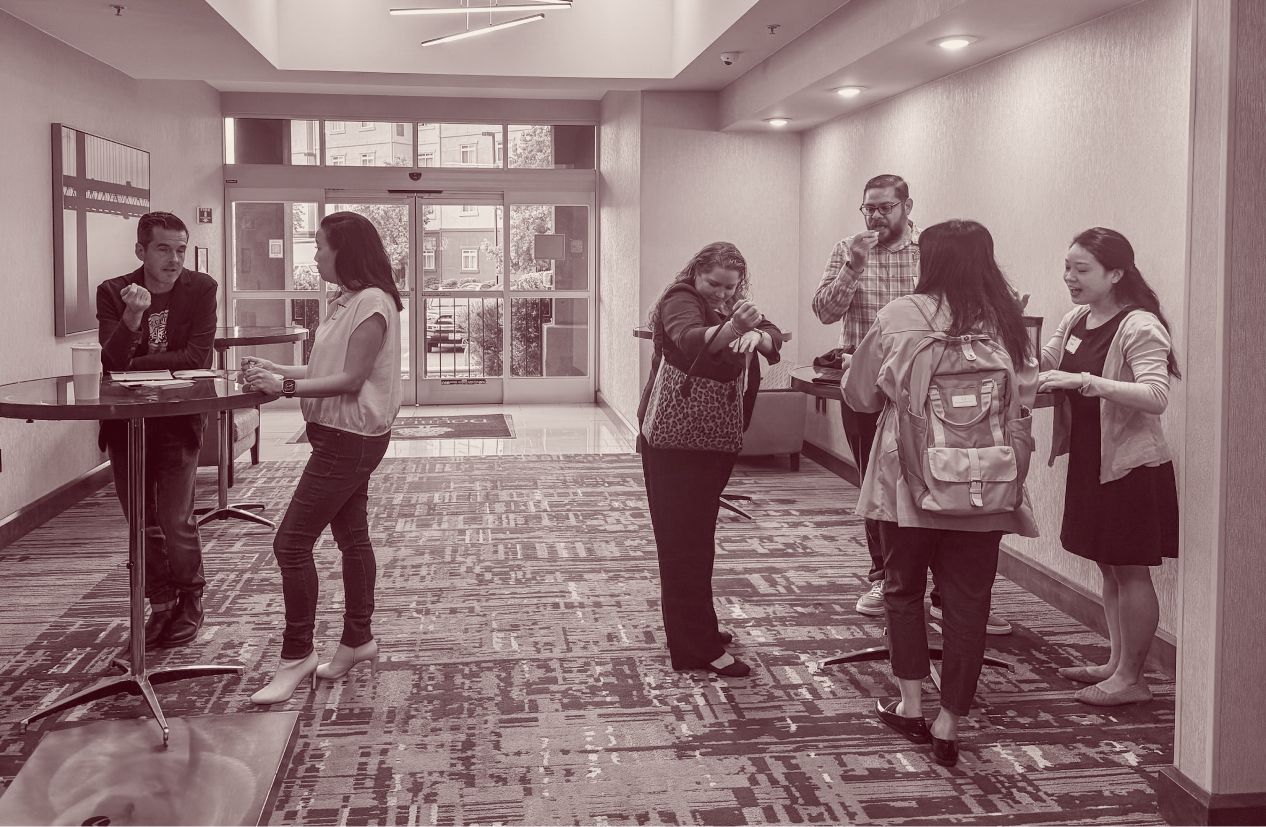
<path fill-rule="evenodd" d="M 857 350 L 885 304 L 914 293 L 919 281 L 919 228 L 914 222 L 905 243 L 893 249 L 876 246 L 860 274 L 844 266 L 852 241 L 849 236 L 830 251 L 830 261 L 813 294 L 813 312 L 822 323 L 841 322 L 839 347 L 846 353 Z"/>

